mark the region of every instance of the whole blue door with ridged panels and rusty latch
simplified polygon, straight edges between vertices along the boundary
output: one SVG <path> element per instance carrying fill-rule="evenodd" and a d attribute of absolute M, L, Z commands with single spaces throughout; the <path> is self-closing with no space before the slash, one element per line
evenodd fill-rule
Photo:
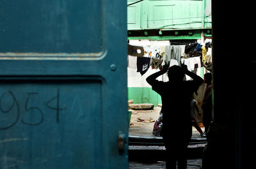
<path fill-rule="evenodd" d="M 128 168 L 126 1 L 0 1 L 0 168 Z"/>

